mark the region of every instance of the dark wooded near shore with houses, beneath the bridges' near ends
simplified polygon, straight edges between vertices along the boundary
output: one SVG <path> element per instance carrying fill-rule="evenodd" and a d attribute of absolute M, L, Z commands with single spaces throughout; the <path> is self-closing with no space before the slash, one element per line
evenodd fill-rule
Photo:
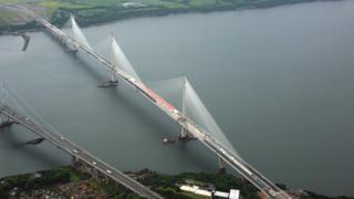
<path fill-rule="evenodd" d="M 177 175 L 164 175 L 149 169 L 125 171 L 131 178 L 149 187 L 163 197 L 191 197 L 181 191 L 180 186 L 199 186 L 206 190 L 219 190 L 228 192 L 230 189 L 240 190 L 243 198 L 260 198 L 261 193 L 247 180 L 227 174 L 219 172 L 180 172 Z M 97 175 L 95 175 L 97 176 Z M 348 196 L 324 196 L 304 189 L 288 188 L 278 184 L 280 188 L 294 198 L 301 199 L 354 199 Z M 82 187 L 85 187 L 82 189 Z M 77 193 L 77 189 L 80 193 Z M 94 177 L 92 171 L 84 166 L 62 166 L 50 170 L 38 170 L 0 178 L 1 197 L 43 197 L 51 193 L 56 197 L 117 197 L 136 195 L 123 186 L 107 180 L 104 176 Z M 196 197 L 197 198 L 197 197 Z"/>

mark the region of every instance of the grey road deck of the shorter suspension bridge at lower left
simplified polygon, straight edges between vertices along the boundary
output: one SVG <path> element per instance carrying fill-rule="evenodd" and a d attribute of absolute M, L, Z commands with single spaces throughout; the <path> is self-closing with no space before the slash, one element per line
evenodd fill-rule
<path fill-rule="evenodd" d="M 27 127 L 28 129 L 35 133 L 40 137 L 45 138 L 48 142 L 54 144 L 56 147 L 72 155 L 73 157 L 96 168 L 105 176 L 125 186 L 126 188 L 131 189 L 137 195 L 142 197 L 150 198 L 150 199 L 162 199 L 160 196 L 158 196 L 156 192 L 152 191 L 147 187 L 143 186 L 138 181 L 132 179 L 127 175 L 123 174 L 122 171 L 115 169 L 111 165 L 98 159 L 94 155 L 90 154 L 87 150 L 81 148 L 80 146 L 72 143 L 67 138 L 64 138 L 62 135 L 44 127 L 43 125 L 38 124 L 32 118 L 19 115 L 17 112 L 14 112 L 8 106 L 0 106 L 0 114 L 3 114 L 10 117 L 15 123 L 21 124 L 22 126 Z"/>

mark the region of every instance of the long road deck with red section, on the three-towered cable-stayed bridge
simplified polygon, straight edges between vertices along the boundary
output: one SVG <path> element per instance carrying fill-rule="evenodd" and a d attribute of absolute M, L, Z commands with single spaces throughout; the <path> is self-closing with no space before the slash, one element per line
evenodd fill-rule
<path fill-rule="evenodd" d="M 236 169 L 241 176 L 248 179 L 259 190 L 267 195 L 269 198 L 277 199 L 290 199 L 291 197 L 274 184 L 268 180 L 263 175 L 252 168 L 247 164 L 239 155 L 227 149 L 221 143 L 212 138 L 205 129 L 196 125 L 190 118 L 183 115 L 181 112 L 176 109 L 170 103 L 156 94 L 153 90 L 148 88 L 143 82 L 134 78 L 132 75 L 115 67 L 111 62 L 105 60 L 103 56 L 96 54 L 90 48 L 83 45 L 74 38 L 65 34 L 63 31 L 52 25 L 44 19 L 37 18 L 37 21 L 44 25 L 44 28 L 53 34 L 55 38 L 59 38 L 62 41 L 65 41 L 67 44 L 74 45 L 77 49 L 82 49 L 94 60 L 102 63 L 108 70 L 114 71 L 119 77 L 122 77 L 127 84 L 136 88 L 144 97 L 150 101 L 154 105 L 165 112 L 169 117 L 176 121 L 180 126 L 186 128 L 192 136 L 198 138 L 204 145 L 211 149 L 215 154 L 221 157 L 227 164 L 229 164 L 233 169 Z"/>

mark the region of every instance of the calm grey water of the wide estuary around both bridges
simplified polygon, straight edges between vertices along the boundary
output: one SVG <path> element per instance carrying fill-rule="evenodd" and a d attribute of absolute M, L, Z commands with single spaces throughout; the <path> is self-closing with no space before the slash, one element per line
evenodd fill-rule
<path fill-rule="evenodd" d="M 173 14 L 83 29 L 113 33 L 146 82 L 186 73 L 236 150 L 275 182 L 354 195 L 354 2 Z M 216 171 L 197 142 L 164 145 L 179 128 L 110 72 L 42 32 L 0 36 L 0 78 L 64 136 L 121 170 Z M 107 46 L 108 48 L 108 46 Z M 177 103 L 177 100 L 176 100 Z M 0 132 L 0 177 L 70 164 L 19 126 Z"/>

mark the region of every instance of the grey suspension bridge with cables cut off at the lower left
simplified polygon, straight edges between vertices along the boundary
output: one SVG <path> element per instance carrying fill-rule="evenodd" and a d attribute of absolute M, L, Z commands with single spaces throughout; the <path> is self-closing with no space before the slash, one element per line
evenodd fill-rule
<path fill-rule="evenodd" d="M 24 108 L 27 104 L 21 106 L 19 103 L 19 100 L 17 101 L 12 95 L 9 95 L 9 92 L 7 90 L 8 88 L 6 88 L 4 86 L 0 88 L 0 92 L 1 92 L 0 128 L 10 126 L 12 124 L 19 124 L 24 128 L 28 128 L 29 130 L 33 132 L 40 137 L 38 139 L 33 139 L 27 143 L 39 144 L 45 139 L 49 143 L 56 146 L 58 148 L 61 148 L 65 153 L 70 154 L 73 157 L 74 161 L 81 160 L 85 163 L 86 165 L 101 171 L 101 174 L 103 174 L 104 176 L 107 176 L 114 181 L 136 192 L 137 195 L 144 198 L 162 199 L 162 197 L 156 192 L 152 191 L 150 189 L 143 186 L 142 184 L 134 180 L 133 178 L 128 177 L 127 175 L 123 174 L 122 171 L 115 169 L 113 166 L 101 160 L 100 158 L 92 155 L 91 153 L 80 147 L 79 145 L 74 144 L 70 139 L 63 137 L 52 126 L 45 123 L 41 124 L 40 122 L 33 119 L 30 116 L 31 114 L 27 113 Z"/>

